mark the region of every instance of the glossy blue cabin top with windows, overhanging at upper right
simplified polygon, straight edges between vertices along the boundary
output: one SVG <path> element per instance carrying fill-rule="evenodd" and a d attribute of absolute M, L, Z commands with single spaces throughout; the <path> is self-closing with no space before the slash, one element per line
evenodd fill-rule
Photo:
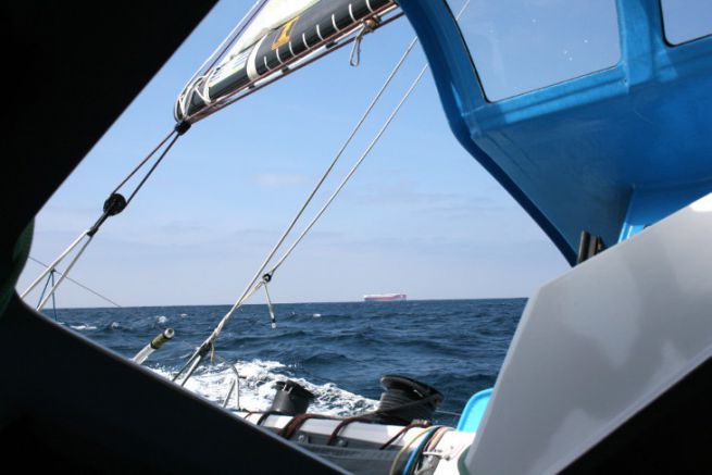
<path fill-rule="evenodd" d="M 469 10 L 492 2 L 520 3 L 519 10 L 509 7 L 513 16 L 532 7 L 473 0 Z M 684 10 L 679 0 L 554 2 L 596 4 L 590 15 L 607 16 L 590 21 L 612 22 L 607 34 L 616 42 L 614 58 L 549 85 L 517 90 L 513 82 L 511 95 L 492 79 L 495 63 L 479 48 L 491 30 L 505 33 L 508 25 L 479 32 L 465 15 L 463 37 L 445 0 L 399 3 L 423 43 L 458 140 L 573 264 L 582 232 L 610 247 L 712 191 L 708 2 L 686 0 Z M 461 2 L 450 3 L 454 10 Z M 680 15 L 695 18 L 691 32 Z"/>

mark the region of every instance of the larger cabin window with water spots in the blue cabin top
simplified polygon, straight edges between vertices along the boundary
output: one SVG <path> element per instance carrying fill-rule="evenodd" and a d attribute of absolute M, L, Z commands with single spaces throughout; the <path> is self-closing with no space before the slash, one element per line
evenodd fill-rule
<path fill-rule="evenodd" d="M 454 14 L 464 3 L 448 2 Z M 615 0 L 472 0 L 459 24 L 489 101 L 604 70 L 621 58 Z"/>

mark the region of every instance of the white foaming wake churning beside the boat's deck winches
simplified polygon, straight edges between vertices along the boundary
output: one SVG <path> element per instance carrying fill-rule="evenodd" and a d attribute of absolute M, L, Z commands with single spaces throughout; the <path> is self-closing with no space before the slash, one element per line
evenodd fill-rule
<path fill-rule="evenodd" d="M 316 385 L 303 378 L 289 377 L 285 374 L 288 366 L 277 361 L 238 361 L 235 367 L 240 375 L 239 407 L 236 393 L 233 392 L 227 404 L 230 410 L 266 411 L 272 404 L 274 384 L 288 378 L 315 396 L 309 412 L 347 416 L 373 411 L 378 405 L 378 401 L 347 391 L 334 383 Z M 166 378 L 172 377 L 165 368 L 153 371 Z M 186 388 L 222 405 L 233 380 L 235 372 L 227 364 L 221 363 L 196 373 L 186 383 Z"/>

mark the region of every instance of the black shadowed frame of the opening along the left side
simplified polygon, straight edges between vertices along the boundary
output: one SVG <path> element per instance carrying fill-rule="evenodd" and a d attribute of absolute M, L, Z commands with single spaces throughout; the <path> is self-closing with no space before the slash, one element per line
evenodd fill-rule
<path fill-rule="evenodd" d="M 14 291 L 35 214 L 214 3 L 3 5 L 13 86 L 0 173 L 0 471 L 340 472 L 67 332 Z"/>

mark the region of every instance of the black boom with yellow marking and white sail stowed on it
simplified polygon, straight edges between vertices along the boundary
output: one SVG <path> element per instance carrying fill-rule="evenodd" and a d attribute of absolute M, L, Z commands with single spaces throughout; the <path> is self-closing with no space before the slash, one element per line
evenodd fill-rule
<path fill-rule="evenodd" d="M 217 66 L 180 93 L 176 120 L 283 71 L 391 7 L 392 0 L 272 0 Z"/>

